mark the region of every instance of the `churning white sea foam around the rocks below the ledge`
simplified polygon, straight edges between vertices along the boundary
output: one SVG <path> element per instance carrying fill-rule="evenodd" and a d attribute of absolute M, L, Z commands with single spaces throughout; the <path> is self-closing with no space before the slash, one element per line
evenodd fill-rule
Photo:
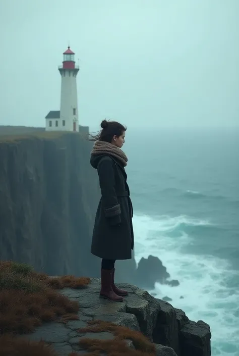
<path fill-rule="evenodd" d="M 238 356 L 239 294 L 226 283 L 238 272 L 231 271 L 225 260 L 206 253 L 202 256 L 183 251 L 185 246 L 193 244 L 191 237 L 183 231 L 184 226 L 200 228 L 209 224 L 209 221 L 186 216 L 151 219 L 135 215 L 135 258 L 138 263 L 142 257 L 157 256 L 171 278 L 180 281 L 178 287 L 156 284 L 151 292 L 158 298 L 172 298 L 172 305 L 183 309 L 191 320 L 203 320 L 210 325 L 212 356 Z M 173 231 L 177 233 L 170 235 Z"/>

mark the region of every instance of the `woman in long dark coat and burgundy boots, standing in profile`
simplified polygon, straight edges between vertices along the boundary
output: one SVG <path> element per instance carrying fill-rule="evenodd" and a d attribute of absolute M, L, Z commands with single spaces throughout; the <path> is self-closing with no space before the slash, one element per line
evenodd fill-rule
<path fill-rule="evenodd" d="M 95 217 L 91 253 L 102 259 L 100 297 L 123 301 L 128 292 L 114 284 L 115 260 L 129 260 L 134 248 L 133 207 L 127 184 L 127 157 L 121 147 L 126 127 L 118 122 L 101 122 L 93 137 L 91 166 L 97 169 L 101 198 Z"/>

